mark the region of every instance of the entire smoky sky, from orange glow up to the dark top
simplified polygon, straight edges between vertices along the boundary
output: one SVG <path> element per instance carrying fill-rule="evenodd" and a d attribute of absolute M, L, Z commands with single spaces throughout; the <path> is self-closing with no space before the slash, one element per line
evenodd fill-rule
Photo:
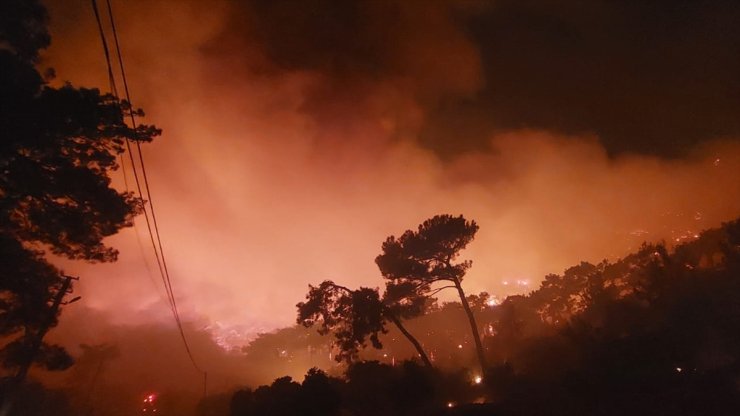
<path fill-rule="evenodd" d="M 134 104 L 164 129 L 145 157 L 185 319 L 290 325 L 309 283 L 382 286 L 381 242 L 439 213 L 478 222 L 464 286 L 501 294 L 740 214 L 737 58 L 699 52 L 734 39 L 723 10 L 674 38 L 679 12 L 638 20 L 645 44 L 599 26 L 604 5 L 323 3 L 113 2 Z M 48 6 L 44 65 L 107 89 L 89 2 Z M 144 230 L 110 240 L 115 264 L 65 266 L 116 323 L 171 319 Z"/>

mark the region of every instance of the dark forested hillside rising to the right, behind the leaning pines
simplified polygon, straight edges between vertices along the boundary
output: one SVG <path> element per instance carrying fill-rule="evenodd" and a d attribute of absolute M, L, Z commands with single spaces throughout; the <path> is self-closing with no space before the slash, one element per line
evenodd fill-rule
<path fill-rule="evenodd" d="M 739 272 L 735 220 L 671 250 L 645 243 L 617 261 L 582 262 L 526 295 L 469 295 L 485 373 L 460 302 L 428 298 L 405 322 L 430 365 L 398 329 L 342 354 L 341 330 L 299 324 L 241 351 L 265 378 L 286 375 L 210 395 L 196 414 L 730 415 L 740 404 Z M 160 414 L 175 414 L 182 400 L 163 395 Z M 23 414 L 76 414 L 64 389 L 32 383 L 20 402 Z"/>

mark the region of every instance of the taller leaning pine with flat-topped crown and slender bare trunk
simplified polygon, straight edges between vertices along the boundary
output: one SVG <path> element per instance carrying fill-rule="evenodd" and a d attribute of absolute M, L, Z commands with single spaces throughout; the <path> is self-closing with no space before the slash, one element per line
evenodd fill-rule
<path fill-rule="evenodd" d="M 455 263 L 477 231 L 475 221 L 467 221 L 462 215 L 437 215 L 424 221 L 417 231 L 407 230 L 399 238 L 388 237 L 375 263 L 383 277 L 390 281 L 390 287 L 403 287 L 406 299 L 412 304 L 440 290 L 455 288 L 470 323 L 481 372 L 485 373 L 486 360 L 478 325 L 462 288 L 463 276 L 472 262 Z M 437 283 L 451 285 L 435 287 Z"/>

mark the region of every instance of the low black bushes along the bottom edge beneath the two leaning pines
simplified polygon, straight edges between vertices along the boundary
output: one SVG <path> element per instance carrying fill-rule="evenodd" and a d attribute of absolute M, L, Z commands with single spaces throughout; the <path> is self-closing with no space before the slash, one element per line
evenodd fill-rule
<path fill-rule="evenodd" d="M 476 391 L 477 390 L 477 391 Z M 466 403 L 480 394 L 465 372 L 442 373 L 415 361 L 399 365 L 351 363 L 342 378 L 311 369 L 303 383 L 275 379 L 231 399 L 231 416 L 435 416 L 450 414 L 448 403 Z M 490 414 L 490 413 L 488 413 Z"/>

